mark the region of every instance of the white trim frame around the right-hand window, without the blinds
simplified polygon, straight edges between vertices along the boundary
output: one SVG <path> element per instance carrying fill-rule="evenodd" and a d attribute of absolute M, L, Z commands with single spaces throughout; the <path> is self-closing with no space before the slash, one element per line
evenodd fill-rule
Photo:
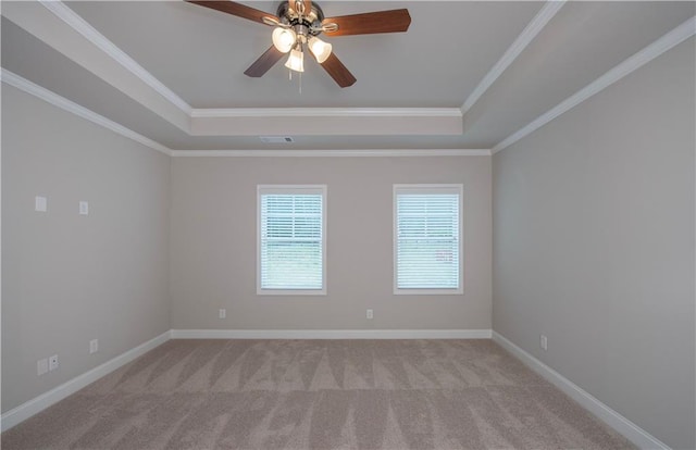
<path fill-rule="evenodd" d="M 399 288 L 398 287 L 398 230 L 397 196 L 412 193 L 457 193 L 459 196 L 459 287 L 457 288 Z M 452 296 L 464 293 L 464 230 L 463 230 L 463 184 L 397 184 L 393 187 L 393 288 L 395 296 Z"/>

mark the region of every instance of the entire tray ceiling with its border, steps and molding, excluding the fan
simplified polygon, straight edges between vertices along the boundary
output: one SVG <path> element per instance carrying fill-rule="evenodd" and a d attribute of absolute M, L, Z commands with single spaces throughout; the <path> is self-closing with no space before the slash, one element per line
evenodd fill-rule
<path fill-rule="evenodd" d="M 326 38 L 358 82 L 341 89 L 311 62 L 300 92 L 282 63 L 244 75 L 270 46 L 258 23 L 182 1 L 2 3 L 4 71 L 173 150 L 490 149 L 696 13 L 691 1 L 324 1 L 326 16 L 408 8 L 411 27 Z M 259 139 L 279 134 L 296 141 Z"/>

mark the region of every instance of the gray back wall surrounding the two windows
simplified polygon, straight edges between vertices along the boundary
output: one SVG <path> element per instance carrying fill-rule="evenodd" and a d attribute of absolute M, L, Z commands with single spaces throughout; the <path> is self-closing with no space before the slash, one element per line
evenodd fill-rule
<path fill-rule="evenodd" d="M 399 183 L 463 184 L 463 296 L 393 295 Z M 327 185 L 326 296 L 257 296 L 259 184 Z M 489 157 L 174 158 L 172 326 L 489 329 L 490 220 Z"/>

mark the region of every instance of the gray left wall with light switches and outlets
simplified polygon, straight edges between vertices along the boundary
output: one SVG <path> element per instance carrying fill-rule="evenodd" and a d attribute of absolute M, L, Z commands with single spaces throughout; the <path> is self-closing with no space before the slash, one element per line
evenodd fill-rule
<path fill-rule="evenodd" d="M 170 329 L 169 196 L 169 157 L 2 86 L 3 412 Z"/>

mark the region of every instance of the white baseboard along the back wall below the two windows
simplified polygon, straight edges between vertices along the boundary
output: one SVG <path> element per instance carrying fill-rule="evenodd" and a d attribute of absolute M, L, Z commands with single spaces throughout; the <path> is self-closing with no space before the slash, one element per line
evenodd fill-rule
<path fill-rule="evenodd" d="M 490 329 L 172 329 L 172 339 L 490 339 Z"/>

